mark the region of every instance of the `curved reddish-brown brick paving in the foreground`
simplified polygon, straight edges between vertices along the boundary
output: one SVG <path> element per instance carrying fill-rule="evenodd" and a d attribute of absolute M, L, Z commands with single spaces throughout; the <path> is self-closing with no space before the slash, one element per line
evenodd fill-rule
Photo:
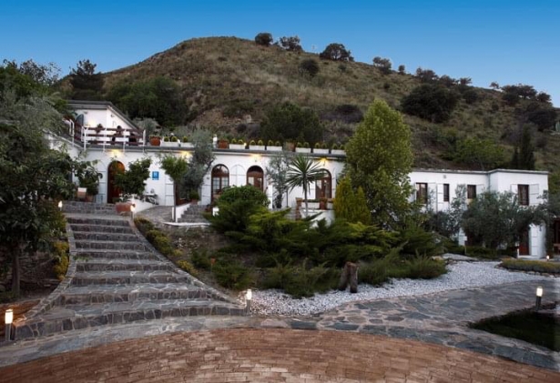
<path fill-rule="evenodd" d="M 219 329 L 129 339 L 0 368 L 1 382 L 558 382 L 560 373 L 407 339 Z"/>

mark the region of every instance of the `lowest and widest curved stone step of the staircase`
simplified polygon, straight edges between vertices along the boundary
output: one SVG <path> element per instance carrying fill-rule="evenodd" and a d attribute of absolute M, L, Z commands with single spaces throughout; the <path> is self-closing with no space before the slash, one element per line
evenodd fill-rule
<path fill-rule="evenodd" d="M 210 299 L 137 300 L 53 307 L 40 317 L 15 326 L 15 338 L 33 338 L 80 328 L 93 328 L 164 317 L 240 316 L 244 307 Z"/>

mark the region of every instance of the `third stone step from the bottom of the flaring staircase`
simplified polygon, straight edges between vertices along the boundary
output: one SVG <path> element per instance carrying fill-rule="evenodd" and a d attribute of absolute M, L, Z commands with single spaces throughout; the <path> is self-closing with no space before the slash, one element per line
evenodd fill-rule
<path fill-rule="evenodd" d="M 190 283 L 187 276 L 169 271 L 82 271 L 76 272 L 72 285 L 130 285 L 138 283 Z"/>

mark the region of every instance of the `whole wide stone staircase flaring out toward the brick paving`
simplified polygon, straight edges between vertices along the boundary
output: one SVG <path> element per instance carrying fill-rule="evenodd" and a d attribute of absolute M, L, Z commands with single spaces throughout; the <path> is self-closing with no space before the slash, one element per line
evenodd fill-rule
<path fill-rule="evenodd" d="M 66 214 L 71 254 L 66 279 L 15 323 L 16 339 L 145 319 L 244 315 L 239 302 L 161 256 L 128 217 L 103 207 L 66 208 L 95 213 Z"/>

